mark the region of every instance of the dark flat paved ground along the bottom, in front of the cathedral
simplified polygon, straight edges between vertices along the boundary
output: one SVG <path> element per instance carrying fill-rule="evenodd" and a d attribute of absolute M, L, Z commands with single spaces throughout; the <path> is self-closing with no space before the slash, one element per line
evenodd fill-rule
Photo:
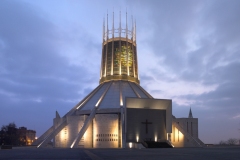
<path fill-rule="evenodd" d="M 240 147 L 159 149 L 0 149 L 0 159 L 240 160 Z"/>

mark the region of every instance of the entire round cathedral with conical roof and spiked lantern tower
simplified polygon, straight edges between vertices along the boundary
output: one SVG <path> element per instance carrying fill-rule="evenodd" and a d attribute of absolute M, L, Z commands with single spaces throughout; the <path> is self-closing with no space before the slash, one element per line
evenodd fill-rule
<path fill-rule="evenodd" d="M 140 85 L 136 23 L 109 28 L 103 23 L 99 85 L 53 125 L 33 145 L 62 148 L 203 147 L 198 119 L 172 115 L 171 99 L 153 98 Z"/>

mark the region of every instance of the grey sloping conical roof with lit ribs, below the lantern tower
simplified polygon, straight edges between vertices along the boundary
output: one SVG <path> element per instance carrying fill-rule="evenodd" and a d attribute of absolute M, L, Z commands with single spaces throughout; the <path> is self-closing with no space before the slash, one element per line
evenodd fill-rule
<path fill-rule="evenodd" d="M 112 109 L 125 106 L 126 97 L 152 98 L 140 85 L 134 82 L 117 80 L 100 84 L 90 93 L 82 104 L 77 106 L 80 111 L 98 109 Z"/>

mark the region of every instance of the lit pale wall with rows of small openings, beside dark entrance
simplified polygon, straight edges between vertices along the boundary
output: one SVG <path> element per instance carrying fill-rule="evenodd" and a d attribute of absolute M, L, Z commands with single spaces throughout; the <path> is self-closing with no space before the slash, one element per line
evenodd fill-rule
<path fill-rule="evenodd" d="M 118 148 L 118 114 L 96 114 L 93 120 L 93 147 Z"/>

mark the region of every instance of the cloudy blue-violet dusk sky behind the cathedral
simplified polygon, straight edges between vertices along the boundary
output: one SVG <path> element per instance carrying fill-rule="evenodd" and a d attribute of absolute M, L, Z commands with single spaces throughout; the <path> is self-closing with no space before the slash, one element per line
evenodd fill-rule
<path fill-rule="evenodd" d="M 204 143 L 239 139 L 239 0 L 0 0 L 0 125 L 40 136 L 97 87 L 103 18 L 126 10 L 141 86 L 177 118 L 191 107 Z"/>

